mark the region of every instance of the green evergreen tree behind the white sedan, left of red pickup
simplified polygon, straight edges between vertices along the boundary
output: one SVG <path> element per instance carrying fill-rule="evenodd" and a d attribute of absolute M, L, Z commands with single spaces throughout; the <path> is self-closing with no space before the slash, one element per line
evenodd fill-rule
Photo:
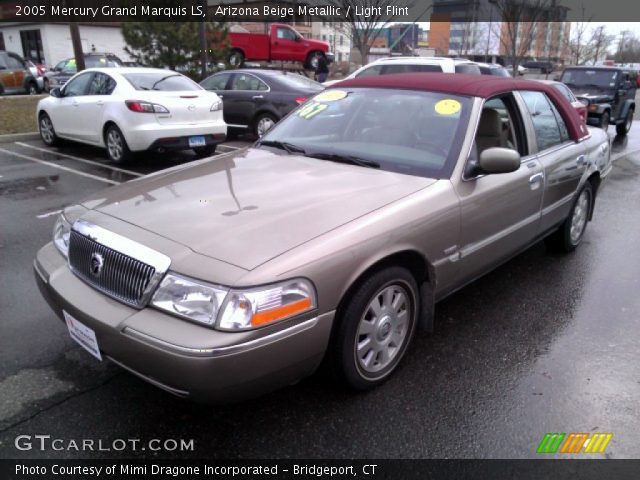
<path fill-rule="evenodd" d="M 138 63 L 196 72 L 200 60 L 198 22 L 123 22 L 125 51 Z M 209 62 L 227 58 L 227 25 L 206 22 Z"/>

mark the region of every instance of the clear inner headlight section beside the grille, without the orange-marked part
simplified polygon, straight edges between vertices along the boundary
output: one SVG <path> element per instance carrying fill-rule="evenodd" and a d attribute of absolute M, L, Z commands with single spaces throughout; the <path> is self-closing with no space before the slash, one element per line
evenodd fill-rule
<path fill-rule="evenodd" d="M 222 287 L 168 273 L 160 282 L 151 304 L 179 317 L 213 325 L 227 291 Z"/>

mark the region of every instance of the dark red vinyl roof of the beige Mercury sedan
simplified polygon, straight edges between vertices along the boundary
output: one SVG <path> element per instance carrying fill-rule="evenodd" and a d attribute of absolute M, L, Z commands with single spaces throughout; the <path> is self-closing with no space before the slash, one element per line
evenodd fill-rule
<path fill-rule="evenodd" d="M 589 135 L 578 112 L 556 88 L 542 82 L 520 80 L 490 75 L 464 75 L 459 73 L 403 73 L 394 75 L 375 75 L 354 78 L 335 83 L 329 88 L 370 87 L 396 88 L 405 90 L 424 90 L 428 92 L 451 93 L 469 97 L 489 98 L 514 90 L 533 90 L 544 92 L 558 108 L 567 124 L 573 140 Z"/>

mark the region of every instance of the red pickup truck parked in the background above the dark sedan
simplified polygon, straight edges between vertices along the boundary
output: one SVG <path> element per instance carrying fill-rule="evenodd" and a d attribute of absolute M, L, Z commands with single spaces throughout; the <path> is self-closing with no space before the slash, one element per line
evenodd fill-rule
<path fill-rule="evenodd" d="M 269 34 L 230 32 L 231 52 L 229 64 L 239 67 L 245 60 L 285 60 L 302 62 L 305 68 L 315 69 L 322 56 L 333 60 L 329 44 L 307 40 L 294 28 L 282 23 L 271 24 Z"/>

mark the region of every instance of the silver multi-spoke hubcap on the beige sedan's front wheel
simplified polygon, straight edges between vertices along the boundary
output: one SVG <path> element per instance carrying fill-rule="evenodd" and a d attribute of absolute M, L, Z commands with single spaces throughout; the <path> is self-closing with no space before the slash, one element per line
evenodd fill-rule
<path fill-rule="evenodd" d="M 397 357 L 409 331 L 411 304 L 407 290 L 390 285 L 369 302 L 358 325 L 355 356 L 358 367 L 377 373 Z"/>

